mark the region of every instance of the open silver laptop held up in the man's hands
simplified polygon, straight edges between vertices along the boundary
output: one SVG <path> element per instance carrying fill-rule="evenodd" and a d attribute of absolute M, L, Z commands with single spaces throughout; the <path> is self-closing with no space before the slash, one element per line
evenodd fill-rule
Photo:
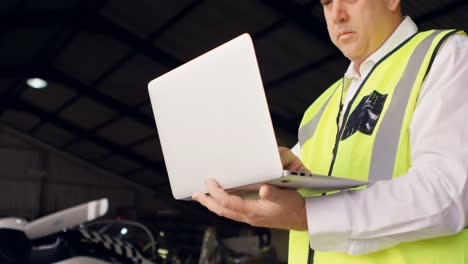
<path fill-rule="evenodd" d="M 318 193 L 366 182 L 284 171 L 251 37 L 243 34 L 152 80 L 151 105 L 172 194 L 260 183 Z"/>

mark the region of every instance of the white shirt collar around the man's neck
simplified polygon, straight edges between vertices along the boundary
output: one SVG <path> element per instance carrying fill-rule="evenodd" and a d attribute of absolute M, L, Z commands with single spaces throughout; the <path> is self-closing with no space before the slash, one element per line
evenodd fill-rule
<path fill-rule="evenodd" d="M 380 61 L 385 55 L 394 50 L 398 45 L 403 43 L 406 39 L 418 32 L 418 27 L 410 17 L 405 17 L 403 22 L 398 28 L 392 33 L 392 35 L 372 53 L 359 67 L 361 77 L 367 76 L 372 67 Z M 345 73 L 345 78 L 359 78 L 359 74 L 354 71 L 354 62 L 351 62 Z"/>

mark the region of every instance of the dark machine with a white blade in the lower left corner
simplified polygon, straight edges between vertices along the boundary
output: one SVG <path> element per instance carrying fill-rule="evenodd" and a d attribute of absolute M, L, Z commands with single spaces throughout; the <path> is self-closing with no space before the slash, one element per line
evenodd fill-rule
<path fill-rule="evenodd" d="M 0 219 L 0 263 L 154 263 L 127 241 L 82 224 L 106 214 L 107 199 L 91 201 L 32 222 Z"/>

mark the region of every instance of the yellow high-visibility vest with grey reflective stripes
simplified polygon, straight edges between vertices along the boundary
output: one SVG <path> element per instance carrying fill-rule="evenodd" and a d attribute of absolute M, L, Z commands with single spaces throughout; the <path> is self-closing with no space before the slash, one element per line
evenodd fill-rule
<path fill-rule="evenodd" d="M 326 90 L 305 112 L 299 128 L 304 165 L 313 173 L 370 182 L 405 175 L 411 167 L 409 125 L 421 85 L 440 45 L 454 33 L 465 34 L 431 30 L 403 42 L 373 67 L 348 109 L 340 109 L 343 79 Z M 306 190 L 299 192 L 309 196 Z M 319 251 L 312 256 L 309 249 L 307 231 L 290 232 L 290 264 L 312 259 L 315 264 L 468 263 L 468 231 L 361 256 Z"/>

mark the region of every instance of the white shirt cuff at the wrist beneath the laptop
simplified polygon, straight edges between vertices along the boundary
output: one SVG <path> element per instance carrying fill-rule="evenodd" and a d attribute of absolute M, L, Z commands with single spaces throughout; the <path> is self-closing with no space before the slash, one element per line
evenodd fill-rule
<path fill-rule="evenodd" d="M 348 252 L 351 217 L 346 191 L 305 199 L 310 247 L 319 251 Z"/>

